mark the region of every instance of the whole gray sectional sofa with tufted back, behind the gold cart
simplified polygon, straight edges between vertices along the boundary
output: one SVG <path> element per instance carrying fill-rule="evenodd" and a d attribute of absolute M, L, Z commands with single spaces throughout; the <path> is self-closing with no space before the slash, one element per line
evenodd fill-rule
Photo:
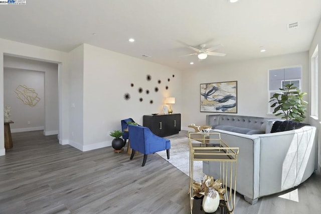
<path fill-rule="evenodd" d="M 230 147 L 239 148 L 236 191 L 251 204 L 262 196 L 298 186 L 317 168 L 315 127 L 270 133 L 273 121 L 248 116 L 206 117 L 207 125 L 213 126 L 212 132 L 220 133 Z M 251 130 L 266 133 L 244 134 L 246 129 L 247 133 L 253 133 Z M 218 162 L 203 161 L 203 173 L 214 178 L 220 176 L 219 167 Z"/>

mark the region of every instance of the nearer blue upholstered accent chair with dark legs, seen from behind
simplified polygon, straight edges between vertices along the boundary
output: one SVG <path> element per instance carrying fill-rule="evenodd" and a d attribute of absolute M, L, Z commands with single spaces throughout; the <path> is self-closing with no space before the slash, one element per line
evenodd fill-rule
<path fill-rule="evenodd" d="M 128 125 L 130 148 L 132 148 L 130 160 L 134 157 L 135 151 L 144 154 L 142 165 L 147 160 L 147 155 L 166 150 L 167 159 L 170 159 L 171 141 L 154 135 L 150 129 L 143 126 Z"/>

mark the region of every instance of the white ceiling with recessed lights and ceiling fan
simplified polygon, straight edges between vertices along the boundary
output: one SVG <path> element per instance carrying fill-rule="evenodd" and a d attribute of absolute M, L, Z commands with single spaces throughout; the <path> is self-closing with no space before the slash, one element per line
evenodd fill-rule
<path fill-rule="evenodd" d="M 307 51 L 320 17 L 320 0 L 27 0 L 0 5 L 0 38 L 65 52 L 87 43 L 186 70 Z M 203 43 L 227 55 L 182 57 Z"/>

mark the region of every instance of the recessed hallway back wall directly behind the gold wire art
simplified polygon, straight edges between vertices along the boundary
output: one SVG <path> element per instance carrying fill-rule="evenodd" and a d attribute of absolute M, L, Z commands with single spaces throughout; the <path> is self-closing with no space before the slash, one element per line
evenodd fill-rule
<path fill-rule="evenodd" d="M 40 101 L 35 106 L 24 104 L 15 93 L 19 85 L 34 88 Z M 4 101 L 11 106 L 11 131 L 24 132 L 44 130 L 45 127 L 45 73 L 18 68 L 4 68 Z M 30 124 L 28 125 L 28 122 Z"/>

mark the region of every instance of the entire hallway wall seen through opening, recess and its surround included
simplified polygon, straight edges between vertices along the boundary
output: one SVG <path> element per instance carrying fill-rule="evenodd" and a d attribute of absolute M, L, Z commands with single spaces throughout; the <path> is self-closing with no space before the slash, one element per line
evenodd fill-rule
<path fill-rule="evenodd" d="M 34 107 L 24 104 L 14 92 L 23 84 L 38 93 L 40 101 Z M 12 107 L 12 132 L 58 134 L 58 64 L 4 56 L 4 103 Z"/>

